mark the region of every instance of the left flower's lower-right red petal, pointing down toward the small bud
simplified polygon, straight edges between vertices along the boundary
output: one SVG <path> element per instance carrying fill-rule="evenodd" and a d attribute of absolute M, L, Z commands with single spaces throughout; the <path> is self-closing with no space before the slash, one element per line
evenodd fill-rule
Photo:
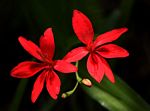
<path fill-rule="evenodd" d="M 49 75 L 46 78 L 46 88 L 49 95 L 53 99 L 57 99 L 57 95 L 60 92 L 60 79 L 54 71 L 49 72 Z"/>

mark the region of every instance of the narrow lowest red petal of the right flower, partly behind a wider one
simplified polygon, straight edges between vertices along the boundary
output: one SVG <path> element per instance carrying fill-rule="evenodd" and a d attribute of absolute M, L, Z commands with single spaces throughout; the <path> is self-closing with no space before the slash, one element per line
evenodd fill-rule
<path fill-rule="evenodd" d="M 102 57 L 100 57 L 101 61 L 102 61 L 102 65 L 105 71 L 105 75 L 107 76 L 107 78 L 112 82 L 115 83 L 115 78 L 114 75 L 111 71 L 111 68 L 109 66 L 109 64 L 107 63 L 107 61 L 105 59 L 103 59 Z"/>

